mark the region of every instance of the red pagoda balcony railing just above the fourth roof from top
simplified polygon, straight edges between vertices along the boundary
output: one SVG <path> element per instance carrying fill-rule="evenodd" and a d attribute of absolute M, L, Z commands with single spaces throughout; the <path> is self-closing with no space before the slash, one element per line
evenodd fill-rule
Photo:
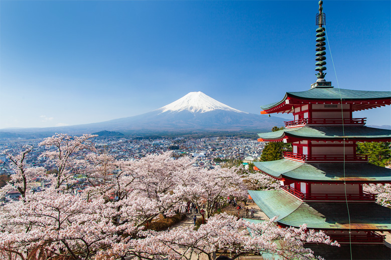
<path fill-rule="evenodd" d="M 289 185 L 281 186 L 282 189 L 288 191 L 292 195 L 300 198 L 301 200 L 357 200 L 357 201 L 374 201 L 376 200 L 376 194 L 363 191 L 361 194 L 351 194 L 348 193 L 303 193 L 299 190 L 292 188 Z"/>

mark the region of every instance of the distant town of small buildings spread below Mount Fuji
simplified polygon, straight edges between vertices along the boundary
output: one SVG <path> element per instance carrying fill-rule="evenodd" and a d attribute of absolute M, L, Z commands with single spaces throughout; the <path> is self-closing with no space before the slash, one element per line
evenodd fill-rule
<path fill-rule="evenodd" d="M 38 146 L 42 140 L 21 140 L 19 142 L 6 142 L 0 144 L 0 151 L 20 151 L 23 145 L 33 145 L 31 156 L 27 158 L 28 166 L 42 166 L 50 169 L 43 157 L 39 157 L 47 147 Z M 143 137 L 107 137 L 94 140 L 99 153 L 106 153 L 119 160 L 135 160 L 146 155 L 159 154 L 172 150 L 173 157 L 195 157 L 194 166 L 213 168 L 229 160 L 252 161 L 260 157 L 265 147 L 264 142 L 251 139 L 231 137 L 210 138 L 160 138 L 145 139 Z M 10 161 L 7 156 L 0 155 L 0 174 L 12 174 Z"/>

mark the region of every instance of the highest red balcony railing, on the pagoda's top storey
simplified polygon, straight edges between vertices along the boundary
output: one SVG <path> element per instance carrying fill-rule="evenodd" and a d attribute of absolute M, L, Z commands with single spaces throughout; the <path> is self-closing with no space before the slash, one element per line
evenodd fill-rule
<path fill-rule="evenodd" d="M 365 125 L 364 118 L 303 118 L 293 121 L 284 121 L 285 127 L 290 128 L 299 125 Z"/>

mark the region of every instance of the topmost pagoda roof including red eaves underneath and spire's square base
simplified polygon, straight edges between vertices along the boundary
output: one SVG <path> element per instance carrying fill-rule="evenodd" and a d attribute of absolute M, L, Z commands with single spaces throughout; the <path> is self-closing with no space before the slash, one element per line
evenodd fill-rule
<path fill-rule="evenodd" d="M 260 113 L 294 113 L 295 108 L 308 104 L 346 104 L 347 106 L 342 107 L 344 110 L 360 111 L 390 105 L 391 92 L 338 89 L 332 87 L 331 82 L 316 82 L 307 91 L 287 92 L 281 101 L 261 106 L 263 111 Z M 328 106 L 328 108 L 333 108 L 333 106 Z"/>

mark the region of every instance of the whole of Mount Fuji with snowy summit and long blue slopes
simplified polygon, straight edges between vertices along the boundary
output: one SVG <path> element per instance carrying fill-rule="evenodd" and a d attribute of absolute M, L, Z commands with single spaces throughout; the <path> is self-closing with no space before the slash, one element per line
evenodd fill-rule
<path fill-rule="evenodd" d="M 183 132 L 183 131 L 270 131 L 284 119 L 246 113 L 229 107 L 202 92 L 184 97 L 149 113 L 110 121 L 51 128 L 7 129 L 7 132 L 58 132 L 69 134 L 96 131 Z M 3 129 L 2 132 L 5 132 Z M 3 134 L 2 134 L 3 135 Z"/>

